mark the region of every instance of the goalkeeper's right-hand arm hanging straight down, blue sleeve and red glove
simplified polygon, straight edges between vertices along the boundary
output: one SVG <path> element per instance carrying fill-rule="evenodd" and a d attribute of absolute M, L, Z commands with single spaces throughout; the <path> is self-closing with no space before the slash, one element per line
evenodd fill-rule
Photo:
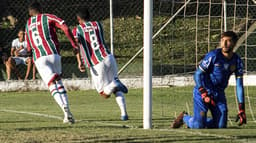
<path fill-rule="evenodd" d="M 239 121 L 239 126 L 246 124 L 246 114 L 245 114 L 245 98 L 244 98 L 244 85 L 243 85 L 243 64 L 239 60 L 237 64 L 236 75 L 236 96 L 238 100 L 239 112 L 236 121 Z"/>

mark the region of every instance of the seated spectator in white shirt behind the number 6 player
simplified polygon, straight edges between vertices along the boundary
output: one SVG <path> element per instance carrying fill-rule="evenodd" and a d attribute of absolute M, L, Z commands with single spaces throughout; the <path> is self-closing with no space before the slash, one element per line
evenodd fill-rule
<path fill-rule="evenodd" d="M 18 38 L 12 41 L 11 57 L 8 58 L 5 64 L 7 80 L 10 80 L 12 71 L 16 73 L 18 79 L 21 79 L 20 73 L 16 67 L 20 64 L 27 66 L 27 71 L 24 78 L 24 80 L 27 80 L 32 67 L 32 58 L 27 53 L 27 43 L 24 40 L 23 30 L 19 30 Z M 35 79 L 35 67 L 33 67 L 33 79 Z"/>

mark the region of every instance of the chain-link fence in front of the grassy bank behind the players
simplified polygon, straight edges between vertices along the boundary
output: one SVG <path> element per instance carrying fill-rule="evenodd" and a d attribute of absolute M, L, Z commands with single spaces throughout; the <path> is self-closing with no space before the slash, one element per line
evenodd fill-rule
<path fill-rule="evenodd" d="M 80 7 L 89 8 L 92 19 L 103 23 L 105 39 L 110 41 L 109 0 L 38 0 L 46 13 L 55 14 L 70 28 L 77 25 L 75 13 Z M 154 0 L 153 33 L 168 20 L 171 22 L 153 40 L 153 75 L 187 74 L 193 72 L 208 51 L 218 47 L 219 35 L 224 31 L 224 5 L 222 0 Z M 227 30 L 236 31 L 241 39 L 238 54 L 244 59 L 245 70 L 255 69 L 255 3 L 251 0 L 227 0 Z M 28 19 L 29 0 L 2 0 L 0 3 L 0 46 L 10 53 L 11 42 Z M 177 13 L 178 10 L 181 10 Z M 114 55 L 121 68 L 143 44 L 143 1 L 113 0 Z M 251 29 L 250 29 L 251 28 Z M 88 73 L 77 69 L 72 47 L 61 31 L 64 78 L 84 78 Z M 5 66 L 1 64 L 0 79 L 6 79 Z M 25 74 L 24 66 L 18 67 Z M 32 74 L 32 73 L 31 73 Z M 140 54 L 121 73 L 121 77 L 141 76 L 143 55 Z M 39 75 L 37 75 L 38 78 Z M 15 79 L 15 77 L 13 77 Z"/>

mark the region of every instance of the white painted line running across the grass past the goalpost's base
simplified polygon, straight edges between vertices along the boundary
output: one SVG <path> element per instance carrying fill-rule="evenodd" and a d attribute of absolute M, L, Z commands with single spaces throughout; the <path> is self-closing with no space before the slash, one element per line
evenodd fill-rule
<path fill-rule="evenodd" d="M 27 114 L 32 116 L 39 116 L 39 117 L 46 117 L 46 118 L 52 118 L 57 120 L 62 120 L 62 117 L 49 115 L 49 114 L 41 114 L 41 113 L 34 113 L 34 112 L 27 112 L 27 111 L 17 111 L 17 110 L 8 110 L 8 109 L 2 109 L 0 112 L 9 112 L 9 113 L 17 113 L 17 114 Z M 106 123 L 106 122 L 99 122 L 99 121 L 86 121 L 86 120 L 76 120 L 76 122 L 87 122 L 87 123 L 96 123 L 100 125 L 110 125 L 110 126 L 119 126 L 119 127 L 125 127 L 130 129 L 139 129 L 144 130 L 137 126 L 130 126 L 130 125 L 123 125 L 123 124 L 114 124 L 114 123 Z M 187 133 L 192 135 L 200 135 L 200 136 L 207 136 L 207 137 L 218 137 L 218 138 L 225 138 L 225 139 L 236 139 L 235 136 L 227 136 L 227 135 L 219 135 L 219 134 L 208 134 L 204 132 L 200 132 L 199 130 L 192 130 L 192 129 L 152 129 L 154 131 L 164 131 L 164 132 L 177 132 L 177 133 Z"/>

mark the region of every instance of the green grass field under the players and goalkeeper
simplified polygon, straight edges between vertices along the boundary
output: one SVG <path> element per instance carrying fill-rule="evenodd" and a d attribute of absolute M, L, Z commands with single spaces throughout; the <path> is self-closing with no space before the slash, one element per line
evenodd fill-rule
<path fill-rule="evenodd" d="M 227 129 L 171 129 L 175 115 L 183 110 L 192 112 L 192 87 L 170 87 L 153 89 L 153 129 L 144 130 L 142 92 L 129 91 L 130 120 L 120 121 L 115 98 L 105 100 L 94 90 L 70 91 L 70 106 L 77 121 L 74 125 L 62 123 L 62 112 L 48 91 L 2 92 L 0 142 L 256 142 L 256 123 L 248 109 L 246 126 L 238 127 L 234 122 L 233 88 L 227 91 Z"/>

